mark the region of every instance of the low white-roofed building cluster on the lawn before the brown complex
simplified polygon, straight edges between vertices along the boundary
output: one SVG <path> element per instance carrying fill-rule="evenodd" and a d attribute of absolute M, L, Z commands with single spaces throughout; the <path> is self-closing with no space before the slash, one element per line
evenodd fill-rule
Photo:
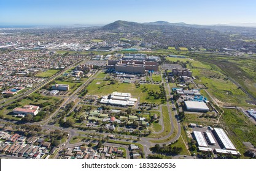
<path fill-rule="evenodd" d="M 113 92 L 109 96 L 103 96 L 100 103 L 117 106 L 134 106 L 136 101 L 136 98 L 131 98 L 131 93 Z"/>

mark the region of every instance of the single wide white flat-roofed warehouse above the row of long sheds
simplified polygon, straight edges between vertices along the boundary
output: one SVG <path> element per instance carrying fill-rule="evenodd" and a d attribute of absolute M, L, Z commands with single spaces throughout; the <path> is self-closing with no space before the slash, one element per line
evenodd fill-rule
<path fill-rule="evenodd" d="M 203 101 L 184 101 L 187 111 L 208 112 L 209 107 Z"/>

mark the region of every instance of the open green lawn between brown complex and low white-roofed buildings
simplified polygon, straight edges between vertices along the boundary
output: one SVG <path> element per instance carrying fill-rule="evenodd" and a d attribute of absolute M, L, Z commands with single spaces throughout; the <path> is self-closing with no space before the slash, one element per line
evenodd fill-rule
<path fill-rule="evenodd" d="M 91 84 L 88 85 L 87 90 L 90 95 L 109 95 L 112 92 L 125 92 L 131 93 L 134 98 L 139 98 L 139 102 L 148 102 L 148 103 L 161 103 L 161 99 L 154 99 L 153 96 L 148 95 L 149 90 L 157 91 L 160 93 L 159 85 L 153 84 L 144 84 L 140 87 L 136 87 L 135 84 L 123 84 L 115 83 L 110 84 L 111 81 L 104 80 L 94 80 Z M 144 87 L 147 88 L 147 91 L 144 91 Z"/>

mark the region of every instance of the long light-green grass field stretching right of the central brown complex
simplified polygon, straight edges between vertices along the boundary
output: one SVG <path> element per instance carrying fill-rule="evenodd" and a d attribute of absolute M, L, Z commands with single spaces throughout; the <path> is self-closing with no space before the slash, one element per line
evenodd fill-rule
<path fill-rule="evenodd" d="M 214 95 L 222 104 L 235 106 L 250 106 L 246 103 L 249 100 L 247 95 L 238 89 L 235 84 L 226 79 L 220 72 L 220 68 L 214 64 L 208 64 L 193 59 L 183 59 L 176 57 L 166 57 L 167 60 L 177 62 L 187 62 L 187 68 L 193 71 L 196 77 L 196 84 L 204 84 L 208 87 L 208 92 Z M 171 86 L 172 87 L 172 86 Z"/>

